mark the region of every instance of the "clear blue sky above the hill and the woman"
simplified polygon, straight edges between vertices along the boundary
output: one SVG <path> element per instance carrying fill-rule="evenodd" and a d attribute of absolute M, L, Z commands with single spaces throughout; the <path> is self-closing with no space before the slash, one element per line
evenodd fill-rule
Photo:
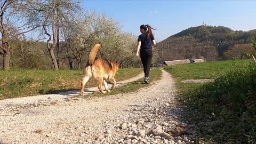
<path fill-rule="evenodd" d="M 256 29 L 256 1 L 90 1 L 84 9 L 106 13 L 121 23 L 121 30 L 140 35 L 149 24 L 157 41 L 189 27 L 225 26 L 233 30 Z"/>

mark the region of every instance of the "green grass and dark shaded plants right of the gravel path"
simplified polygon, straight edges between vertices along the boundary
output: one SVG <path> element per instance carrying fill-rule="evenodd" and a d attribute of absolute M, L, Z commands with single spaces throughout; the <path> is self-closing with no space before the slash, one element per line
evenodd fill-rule
<path fill-rule="evenodd" d="M 249 60 L 191 63 L 166 67 L 175 78 L 182 100 L 190 109 L 191 123 L 219 121 L 202 126 L 198 141 L 247 143 L 255 141 L 256 66 Z M 214 82 L 182 83 L 184 79 L 213 78 Z M 209 129 L 213 131 L 209 132 Z"/>

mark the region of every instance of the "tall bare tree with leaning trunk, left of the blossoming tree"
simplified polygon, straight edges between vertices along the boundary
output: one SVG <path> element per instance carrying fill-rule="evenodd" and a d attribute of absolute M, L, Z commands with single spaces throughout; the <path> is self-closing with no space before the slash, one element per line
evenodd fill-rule
<path fill-rule="evenodd" d="M 59 70 L 55 48 L 59 41 L 58 34 L 63 18 L 75 17 L 81 13 L 81 6 L 73 0 L 46 0 L 38 3 L 41 13 L 37 15 L 38 22 L 43 23 L 43 34 L 49 37 L 46 41 L 55 70 Z"/>

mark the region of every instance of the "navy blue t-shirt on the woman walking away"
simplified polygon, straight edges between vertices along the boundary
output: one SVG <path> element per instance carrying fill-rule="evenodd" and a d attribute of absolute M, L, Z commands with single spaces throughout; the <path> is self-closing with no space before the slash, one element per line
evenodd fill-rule
<path fill-rule="evenodd" d="M 153 35 L 147 38 L 147 33 L 141 34 L 138 38 L 138 42 L 141 42 L 140 50 L 152 50 L 152 41 L 154 39 Z"/>

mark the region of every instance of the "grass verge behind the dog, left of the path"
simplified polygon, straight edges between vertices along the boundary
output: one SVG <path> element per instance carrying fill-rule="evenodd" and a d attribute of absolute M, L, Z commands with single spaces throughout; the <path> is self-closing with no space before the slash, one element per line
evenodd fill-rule
<path fill-rule="evenodd" d="M 142 69 L 119 69 L 116 81 L 123 81 Z M 83 70 L 0 70 L 0 99 L 25 97 L 35 94 L 57 93 L 64 90 L 80 89 Z M 97 86 L 94 78 L 85 87 Z"/>

